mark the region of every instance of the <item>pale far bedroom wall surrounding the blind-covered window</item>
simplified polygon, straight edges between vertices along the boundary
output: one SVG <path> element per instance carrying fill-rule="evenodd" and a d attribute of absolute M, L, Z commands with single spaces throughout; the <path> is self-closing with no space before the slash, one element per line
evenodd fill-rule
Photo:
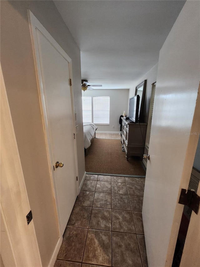
<path fill-rule="evenodd" d="M 110 96 L 110 124 L 109 125 L 97 125 L 98 131 L 116 131 L 119 132 L 119 117 L 123 114 L 123 111 L 128 112 L 128 94 L 129 89 L 93 89 L 86 90 L 84 96 Z M 114 128 L 113 128 L 114 126 Z"/>

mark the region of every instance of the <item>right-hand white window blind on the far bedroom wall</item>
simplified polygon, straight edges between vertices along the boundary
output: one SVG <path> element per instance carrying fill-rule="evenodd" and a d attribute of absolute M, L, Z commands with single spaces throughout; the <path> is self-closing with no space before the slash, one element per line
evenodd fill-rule
<path fill-rule="evenodd" d="M 94 124 L 109 124 L 110 117 L 110 97 L 93 97 L 93 122 Z"/>

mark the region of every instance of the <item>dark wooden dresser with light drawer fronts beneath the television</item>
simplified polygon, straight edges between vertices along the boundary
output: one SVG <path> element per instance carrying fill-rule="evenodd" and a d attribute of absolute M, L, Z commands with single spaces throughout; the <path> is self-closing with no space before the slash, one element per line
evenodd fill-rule
<path fill-rule="evenodd" d="M 128 122 L 122 118 L 121 142 L 127 160 L 133 156 L 139 156 L 141 160 L 143 159 L 146 129 L 147 123 Z"/>

